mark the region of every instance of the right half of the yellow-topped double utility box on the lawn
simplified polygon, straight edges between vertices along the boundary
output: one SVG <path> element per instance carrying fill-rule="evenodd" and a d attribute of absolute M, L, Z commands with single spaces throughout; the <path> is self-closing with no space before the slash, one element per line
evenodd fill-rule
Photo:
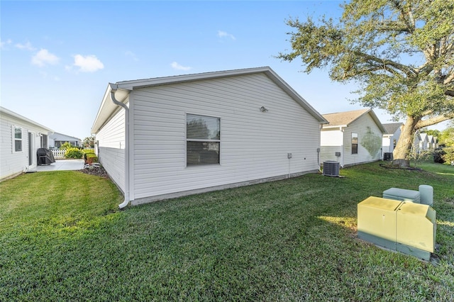
<path fill-rule="evenodd" d="M 436 241 L 436 211 L 426 204 L 402 203 L 397 210 L 397 250 L 430 259 Z"/>

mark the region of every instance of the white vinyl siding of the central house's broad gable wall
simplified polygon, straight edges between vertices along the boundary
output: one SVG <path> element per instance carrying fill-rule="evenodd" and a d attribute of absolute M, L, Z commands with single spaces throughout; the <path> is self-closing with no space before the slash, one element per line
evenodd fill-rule
<path fill-rule="evenodd" d="M 319 169 L 319 122 L 265 74 L 133 92 L 135 198 Z M 220 164 L 187 167 L 188 113 L 220 118 Z"/>

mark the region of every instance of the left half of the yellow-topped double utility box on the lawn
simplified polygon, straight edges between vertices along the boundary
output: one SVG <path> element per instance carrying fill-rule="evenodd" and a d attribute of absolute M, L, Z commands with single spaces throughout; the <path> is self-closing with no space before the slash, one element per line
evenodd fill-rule
<path fill-rule="evenodd" d="M 374 196 L 358 203 L 358 237 L 396 250 L 396 211 L 402 203 Z"/>

